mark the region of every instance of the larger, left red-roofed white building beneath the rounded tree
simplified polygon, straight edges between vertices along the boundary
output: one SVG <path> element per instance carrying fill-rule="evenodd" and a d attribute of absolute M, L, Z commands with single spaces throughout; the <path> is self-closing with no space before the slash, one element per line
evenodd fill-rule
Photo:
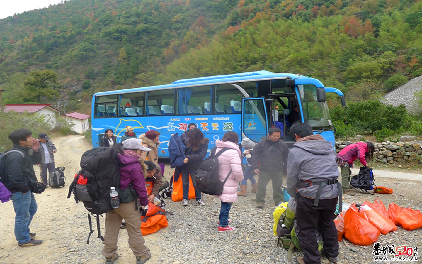
<path fill-rule="evenodd" d="M 52 126 L 56 124 L 57 114 L 60 114 L 60 111 L 52 107 L 50 103 L 5 104 L 4 112 L 28 112 L 31 114 L 43 115 L 44 120 L 46 120 L 46 122 L 49 122 Z"/>

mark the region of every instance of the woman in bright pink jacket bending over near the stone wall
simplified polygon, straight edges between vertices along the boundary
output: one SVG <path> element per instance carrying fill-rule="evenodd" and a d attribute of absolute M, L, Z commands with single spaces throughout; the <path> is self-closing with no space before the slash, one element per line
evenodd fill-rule
<path fill-rule="evenodd" d="M 360 163 L 366 167 L 368 161 L 372 161 L 374 150 L 375 147 L 372 142 L 356 142 L 356 144 L 349 144 L 338 152 L 335 161 L 337 162 L 337 166 L 340 166 L 343 193 L 351 196 L 354 195 L 354 190 L 350 189 L 349 186 L 353 161 L 358 158 Z"/>

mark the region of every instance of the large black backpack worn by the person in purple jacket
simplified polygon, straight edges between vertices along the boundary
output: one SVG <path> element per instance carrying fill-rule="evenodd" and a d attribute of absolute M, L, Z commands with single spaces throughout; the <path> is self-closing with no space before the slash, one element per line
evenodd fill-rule
<path fill-rule="evenodd" d="M 100 233 L 99 216 L 103 213 L 113 210 L 110 199 L 110 188 L 115 187 L 120 195 L 120 174 L 119 164 L 117 163 L 116 150 L 110 147 L 95 147 L 87 150 L 81 157 L 81 170 L 69 186 L 68 198 L 70 193 L 75 196 L 75 201 L 82 201 L 84 207 L 88 210 L 88 221 L 90 233 L 92 230 L 91 215 L 97 218 L 98 238 L 104 241 Z M 78 183 L 84 179 L 86 184 Z"/>

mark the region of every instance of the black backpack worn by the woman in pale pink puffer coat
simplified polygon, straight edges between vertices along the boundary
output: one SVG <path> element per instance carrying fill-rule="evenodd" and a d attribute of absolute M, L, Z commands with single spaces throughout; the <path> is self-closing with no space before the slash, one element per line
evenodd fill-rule
<path fill-rule="evenodd" d="M 218 157 L 226 150 L 231 150 L 231 148 L 225 147 L 215 154 L 216 149 L 217 147 L 212 148 L 209 157 L 202 161 L 201 166 L 194 174 L 199 191 L 209 195 L 221 195 L 223 193 L 224 184 L 232 173 L 232 170 L 230 170 L 224 182 L 220 180 L 218 174 L 218 167 L 220 166 Z"/>

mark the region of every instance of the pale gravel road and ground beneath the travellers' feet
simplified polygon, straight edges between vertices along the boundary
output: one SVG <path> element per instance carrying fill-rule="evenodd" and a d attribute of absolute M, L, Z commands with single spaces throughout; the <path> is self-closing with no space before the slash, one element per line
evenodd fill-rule
<path fill-rule="evenodd" d="M 79 160 L 82 153 L 91 148 L 83 136 L 65 136 L 52 139 L 57 147 L 55 160 L 57 166 L 65 166 L 67 177 L 65 188 L 48 188 L 42 194 L 35 194 L 38 202 L 38 212 L 35 214 L 31 231 L 37 233 L 37 239 L 43 244 L 35 247 L 20 248 L 14 237 L 14 210 L 11 202 L 0 204 L 0 264 L 99 264 L 104 263 L 101 255 L 101 240 L 96 238 L 97 231 L 86 244 L 89 232 L 87 211 L 82 204 L 76 204 L 73 196 L 66 199 L 68 185 L 73 175 L 79 170 Z M 39 174 L 39 169 L 36 173 Z M 166 164 L 165 177 L 170 179 L 173 170 Z M 394 193 L 358 194 L 346 196 L 344 202 L 361 204 L 365 200 L 373 201 L 380 198 L 388 207 L 394 202 L 399 206 L 412 209 L 422 209 L 420 183 L 415 180 L 376 177 L 380 186 L 392 188 Z M 422 179 L 421 179 L 422 180 Z M 285 182 L 285 179 L 284 179 Z M 249 184 L 249 182 L 248 182 Z M 248 191 L 251 187 L 248 186 Z M 145 236 L 146 245 L 151 249 L 152 257 L 147 264 L 241 264 L 241 263 L 288 263 L 287 250 L 276 246 L 273 236 L 273 210 L 271 184 L 268 185 L 266 205 L 264 209 L 255 208 L 256 202 L 251 201 L 254 195 L 239 197 L 230 211 L 233 232 L 217 232 L 220 200 L 206 195 L 206 206 L 198 206 L 191 202 L 183 207 L 181 202 L 166 199 L 166 210 L 173 212 L 168 215 L 168 227 L 155 234 Z M 104 218 L 100 219 L 102 234 Z M 127 232 L 121 229 L 119 235 L 120 258 L 116 264 L 135 263 L 135 258 L 127 245 Z M 378 242 L 381 245 L 406 245 L 422 248 L 421 229 L 406 231 L 401 227 L 387 235 L 381 235 Z M 303 253 L 293 253 L 296 256 Z M 357 246 L 344 239 L 340 242 L 338 264 L 375 263 L 372 246 Z M 328 263 L 327 259 L 322 259 Z M 422 259 L 419 260 L 422 262 Z M 378 263 L 415 263 L 411 261 L 383 261 Z"/>

